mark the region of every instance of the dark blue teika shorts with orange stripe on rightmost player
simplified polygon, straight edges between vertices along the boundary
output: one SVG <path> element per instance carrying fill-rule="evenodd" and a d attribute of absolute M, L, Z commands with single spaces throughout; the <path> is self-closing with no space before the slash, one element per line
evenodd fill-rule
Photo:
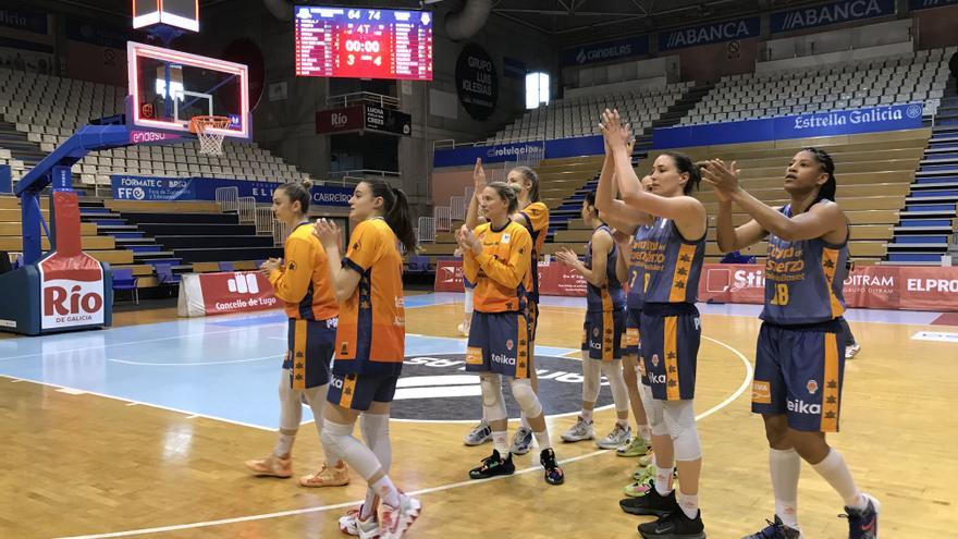
<path fill-rule="evenodd" d="M 838 320 L 803 326 L 763 322 L 756 350 L 752 412 L 788 416 L 807 432 L 837 432 L 845 376 Z"/>

